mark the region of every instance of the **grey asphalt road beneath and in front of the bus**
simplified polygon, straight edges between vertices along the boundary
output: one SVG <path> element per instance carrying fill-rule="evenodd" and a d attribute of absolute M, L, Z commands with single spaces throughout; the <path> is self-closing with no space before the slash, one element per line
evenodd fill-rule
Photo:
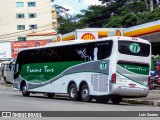
<path fill-rule="evenodd" d="M 2 81 L 0 81 L 0 111 L 113 111 L 113 113 L 114 111 L 126 111 L 126 112 L 118 113 L 118 114 L 121 114 L 122 116 L 124 114 L 125 116 L 126 114 L 130 114 L 127 111 L 160 111 L 160 107 L 147 106 L 147 105 L 141 105 L 141 104 L 128 104 L 128 103 L 113 105 L 110 102 L 107 104 L 100 104 L 94 101 L 91 103 L 73 102 L 73 101 L 69 101 L 67 97 L 65 98 L 57 97 L 54 99 L 49 99 L 43 94 L 31 94 L 30 97 L 23 97 L 20 91 L 13 91 L 13 88 L 11 85 L 5 85 L 3 84 Z M 62 114 L 64 113 L 65 112 L 62 112 Z M 60 114 L 60 113 L 57 113 L 57 114 Z M 73 113 L 73 116 L 74 116 L 74 113 Z M 160 117 L 160 114 L 159 114 L 159 117 Z M 3 119 L 8 120 L 9 118 L 7 119 L 3 118 Z M 44 118 L 41 118 L 41 119 L 44 119 Z M 50 118 L 46 118 L 46 119 L 50 119 Z M 64 119 L 64 117 L 63 118 L 58 117 L 57 119 Z M 76 118 L 76 120 L 77 119 L 82 119 L 82 117 L 80 118 L 78 117 Z M 93 118 L 87 117 L 85 119 L 97 120 L 97 117 L 93 117 Z M 105 119 L 105 118 L 101 116 L 101 118 L 98 118 L 98 119 Z M 113 119 L 113 117 L 107 118 L 107 119 Z M 126 120 L 128 119 L 129 118 L 126 118 Z M 140 118 L 133 117 L 132 119 L 140 119 Z M 149 120 L 151 118 L 148 119 L 147 117 L 143 119 Z M 158 118 L 154 117 L 154 119 L 158 119 Z M 65 118 L 65 120 L 67 119 Z"/>

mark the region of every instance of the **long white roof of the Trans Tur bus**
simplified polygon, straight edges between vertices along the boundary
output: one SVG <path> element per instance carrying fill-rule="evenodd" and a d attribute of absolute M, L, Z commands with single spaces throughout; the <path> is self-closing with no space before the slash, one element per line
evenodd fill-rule
<path fill-rule="evenodd" d="M 104 41 L 104 40 L 129 40 L 129 41 L 137 41 L 137 42 L 143 42 L 146 44 L 150 44 L 149 41 L 136 38 L 136 37 L 125 37 L 125 36 L 113 36 L 113 37 L 106 37 L 102 39 L 96 39 L 96 40 L 82 40 L 82 39 L 76 39 L 76 40 L 69 40 L 69 41 L 63 41 L 63 42 L 54 42 L 54 43 L 48 43 L 45 46 L 39 46 L 39 47 L 32 47 L 32 48 L 24 48 L 21 51 L 24 50 L 31 50 L 31 49 L 40 49 L 40 48 L 47 48 L 47 47 L 55 47 L 55 46 L 64 46 L 64 45 L 72 45 L 72 44 L 80 44 L 80 43 L 90 43 L 90 42 L 97 42 L 97 41 Z M 20 51 L 20 52 L 21 52 Z"/>

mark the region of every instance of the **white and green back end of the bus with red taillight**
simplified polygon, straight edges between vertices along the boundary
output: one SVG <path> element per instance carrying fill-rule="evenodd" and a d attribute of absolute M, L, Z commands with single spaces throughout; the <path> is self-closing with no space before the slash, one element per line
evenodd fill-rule
<path fill-rule="evenodd" d="M 145 97 L 151 63 L 151 45 L 140 38 L 118 37 L 116 70 L 111 79 L 111 95 Z M 114 100 L 121 100 L 117 97 Z"/>

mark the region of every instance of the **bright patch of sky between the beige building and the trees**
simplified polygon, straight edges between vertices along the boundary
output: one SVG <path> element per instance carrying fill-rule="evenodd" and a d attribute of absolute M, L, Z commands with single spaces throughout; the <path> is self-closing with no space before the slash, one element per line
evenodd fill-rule
<path fill-rule="evenodd" d="M 90 5 L 102 5 L 99 0 L 54 0 L 54 4 L 69 9 L 67 13 L 71 15 L 81 13 L 82 9 L 87 9 Z"/>

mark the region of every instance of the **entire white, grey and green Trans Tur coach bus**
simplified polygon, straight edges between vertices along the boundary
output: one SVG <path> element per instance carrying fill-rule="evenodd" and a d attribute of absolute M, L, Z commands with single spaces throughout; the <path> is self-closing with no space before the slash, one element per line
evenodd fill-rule
<path fill-rule="evenodd" d="M 132 37 L 75 40 L 19 52 L 14 89 L 23 96 L 69 94 L 70 100 L 111 101 L 148 95 L 151 45 Z"/>

